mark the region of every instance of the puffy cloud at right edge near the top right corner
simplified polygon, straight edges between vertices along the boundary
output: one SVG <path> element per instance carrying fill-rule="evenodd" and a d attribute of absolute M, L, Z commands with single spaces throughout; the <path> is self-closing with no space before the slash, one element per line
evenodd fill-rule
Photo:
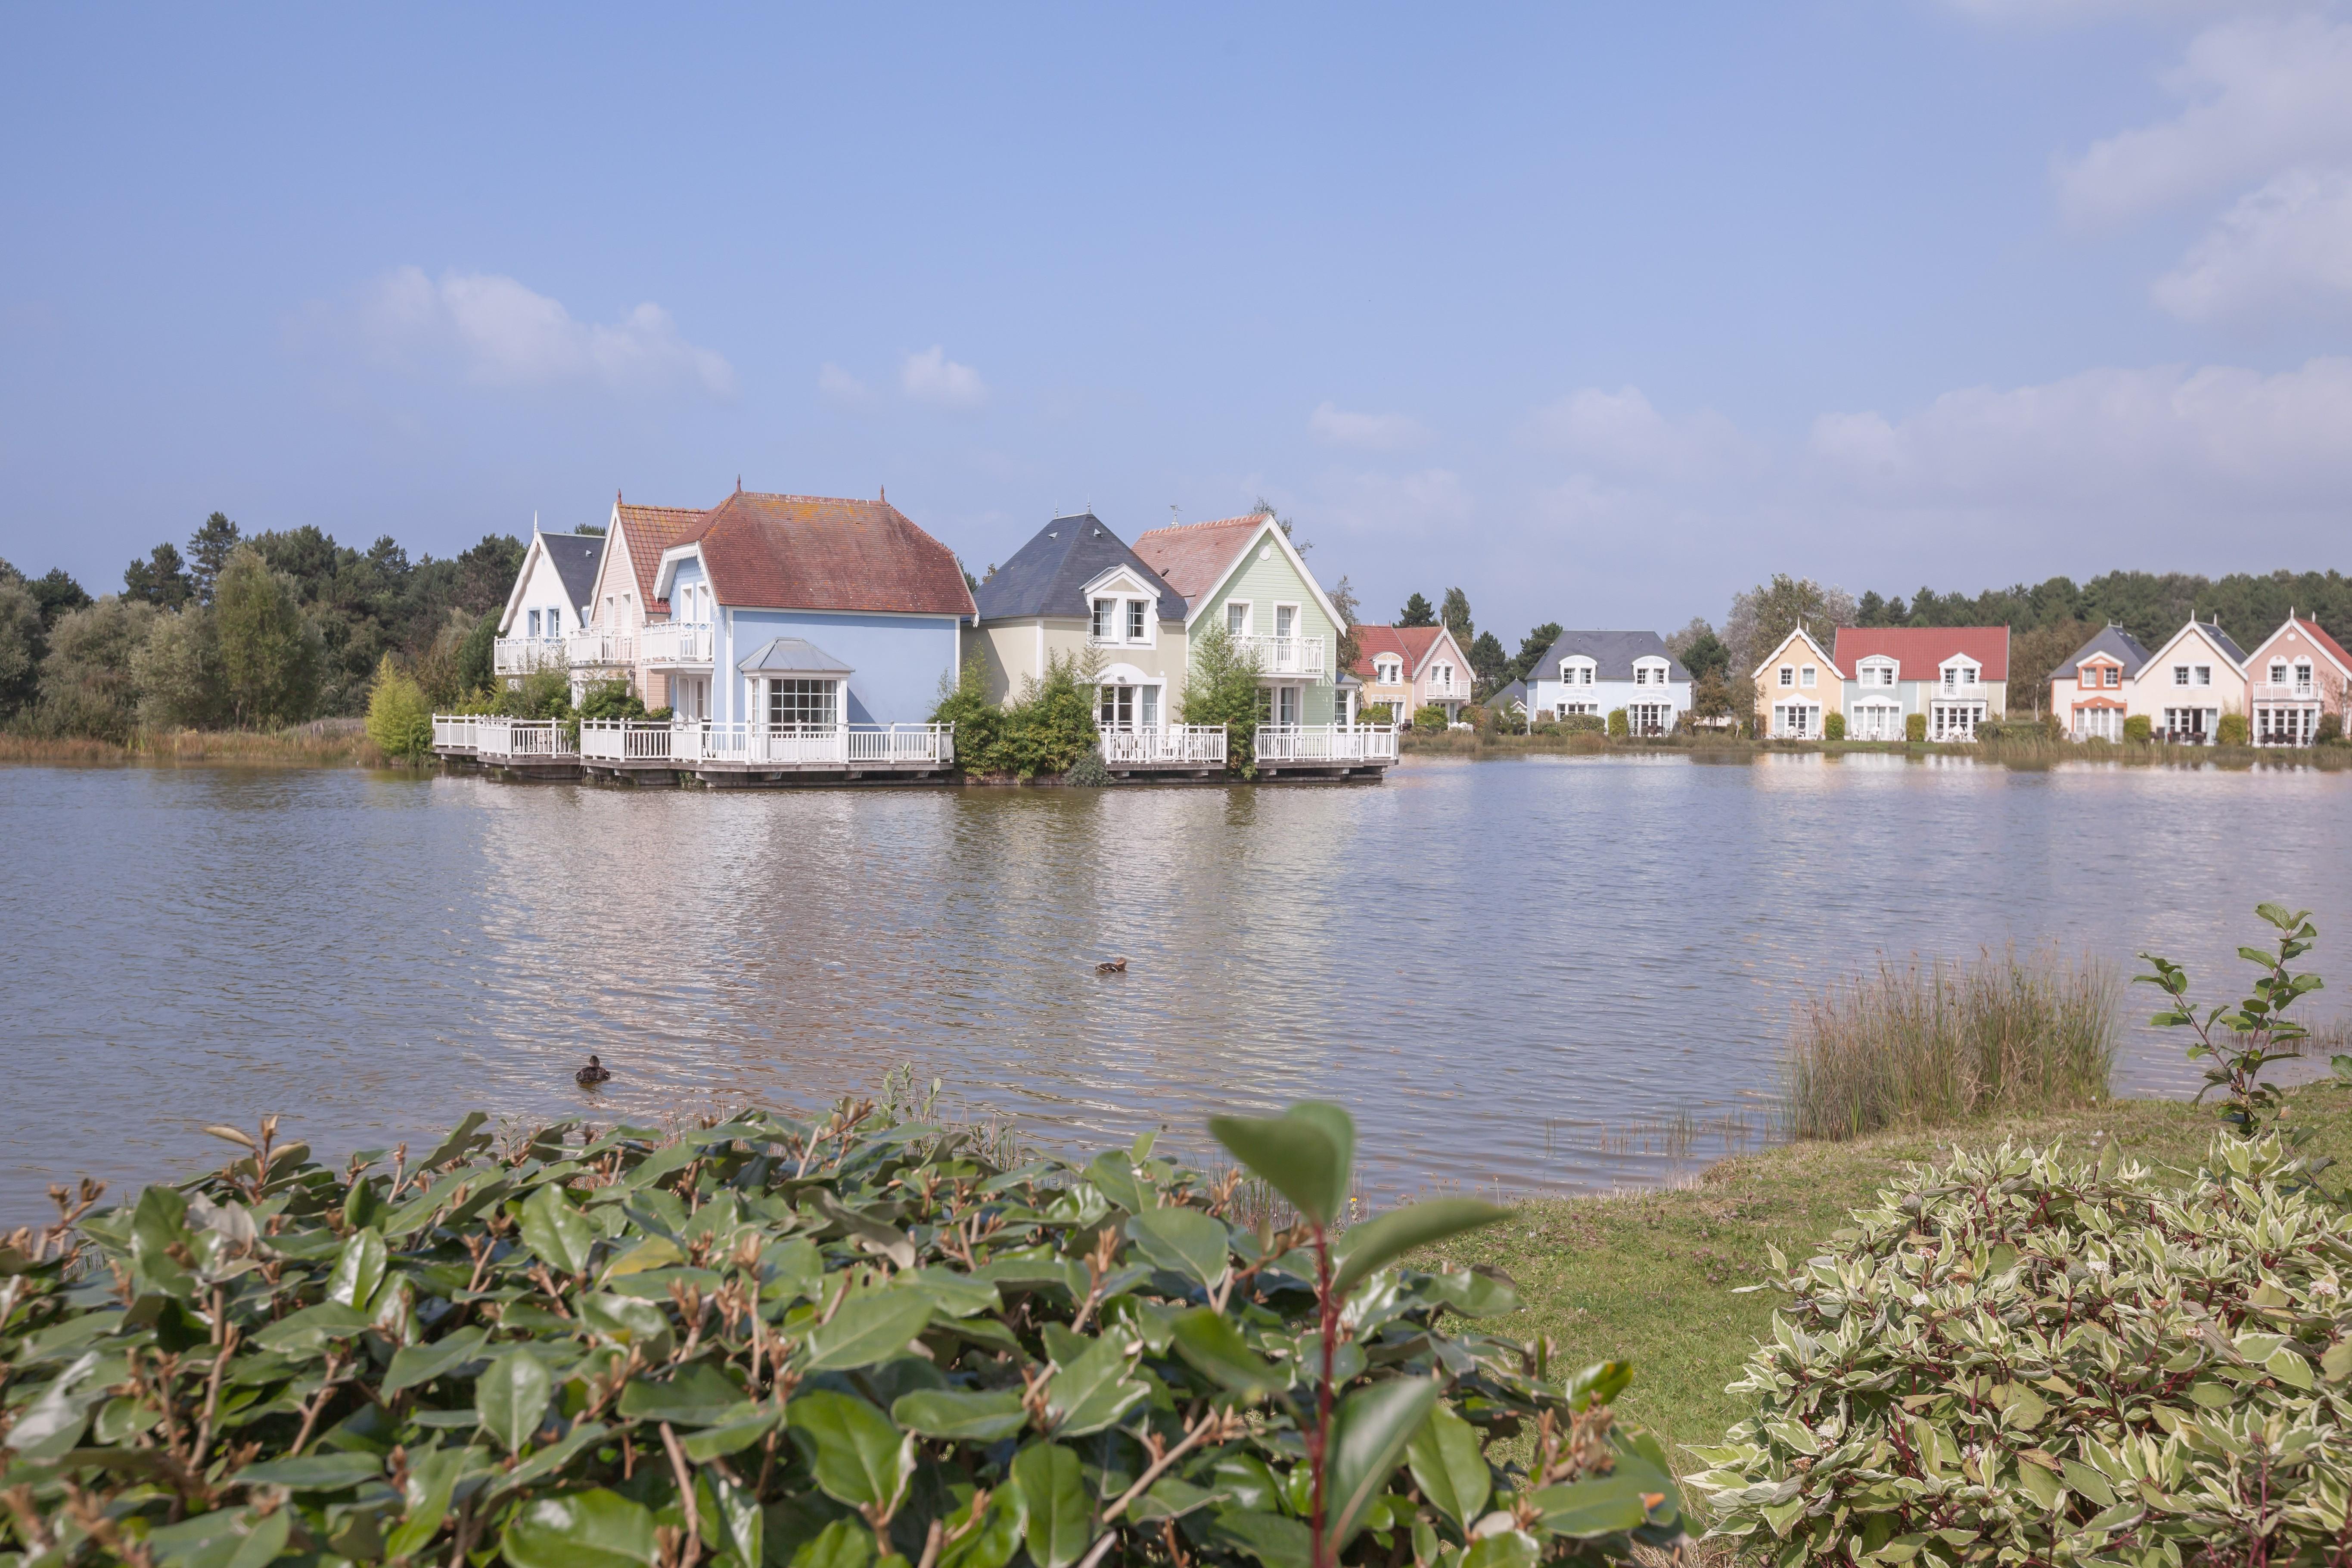
<path fill-rule="evenodd" d="M 2352 24 L 2249 19 L 2199 33 L 2166 78 L 2178 118 L 2107 136 L 2060 165 L 2058 195 L 2114 221 L 2286 167 L 2352 155 Z"/>

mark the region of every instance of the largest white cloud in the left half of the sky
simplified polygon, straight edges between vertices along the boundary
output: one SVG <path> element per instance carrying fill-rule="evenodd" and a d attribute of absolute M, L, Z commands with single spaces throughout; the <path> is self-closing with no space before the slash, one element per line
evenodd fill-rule
<path fill-rule="evenodd" d="M 454 355 L 487 386 L 602 386 L 616 393 L 699 386 L 731 397 L 734 367 L 677 336 L 661 306 L 644 303 L 614 324 L 576 322 L 562 301 L 496 273 L 442 273 L 405 266 L 379 277 L 360 301 L 360 329 L 400 364 Z"/>

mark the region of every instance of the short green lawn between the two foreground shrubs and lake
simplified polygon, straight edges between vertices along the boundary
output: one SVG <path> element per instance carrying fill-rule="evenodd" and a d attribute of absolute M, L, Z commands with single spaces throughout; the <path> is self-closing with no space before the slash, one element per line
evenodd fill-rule
<path fill-rule="evenodd" d="M 2352 1095 L 2298 1095 L 2293 1117 L 2314 1126 L 2314 1152 L 2352 1159 Z M 2114 1138 L 2147 1164 L 2180 1168 L 2197 1164 L 2213 1128 L 2211 1107 L 2117 1100 L 2074 1117 L 1802 1143 L 1726 1159 L 1696 1187 L 1529 1201 L 1510 1225 L 1432 1255 L 1510 1274 L 1526 1309 L 1505 1319 L 1508 1333 L 1552 1335 L 1569 1366 L 1632 1361 L 1632 1389 L 1618 1401 L 1628 1420 L 1675 1446 L 1712 1443 L 1748 1415 L 1724 1385 L 1771 1335 L 1778 1293 L 1733 1295 L 1766 1276 L 1766 1246 L 1813 1255 L 1889 1175 L 1952 1145 L 2065 1138 L 2096 1147 L 2096 1138 Z"/>

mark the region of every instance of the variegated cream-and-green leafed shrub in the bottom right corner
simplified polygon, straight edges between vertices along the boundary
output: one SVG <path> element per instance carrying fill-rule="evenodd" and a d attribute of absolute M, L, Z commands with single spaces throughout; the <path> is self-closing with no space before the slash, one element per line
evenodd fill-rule
<path fill-rule="evenodd" d="M 1799 1267 L 1693 1490 L 1799 1563 L 2324 1563 L 2352 1495 L 2352 1218 L 2277 1138 L 2145 1166 L 2004 1145 Z"/>

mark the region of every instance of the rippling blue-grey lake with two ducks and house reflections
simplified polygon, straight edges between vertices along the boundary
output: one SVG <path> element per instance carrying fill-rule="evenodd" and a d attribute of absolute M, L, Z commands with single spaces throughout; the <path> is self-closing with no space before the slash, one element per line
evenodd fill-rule
<path fill-rule="evenodd" d="M 9 766 L 0 1220 L 263 1112 L 341 1154 L 468 1107 L 814 1107 L 896 1063 L 1051 1147 L 1200 1154 L 1214 1110 L 1343 1100 L 1374 1199 L 1658 1182 L 1771 1138 L 1792 1004 L 1879 954 L 2150 947 L 2218 999 L 2279 898 L 2340 976 L 2347 806 L 2352 773 L 1877 755 L 741 795 Z M 2133 1027 L 2124 1093 L 2194 1086 Z"/>

